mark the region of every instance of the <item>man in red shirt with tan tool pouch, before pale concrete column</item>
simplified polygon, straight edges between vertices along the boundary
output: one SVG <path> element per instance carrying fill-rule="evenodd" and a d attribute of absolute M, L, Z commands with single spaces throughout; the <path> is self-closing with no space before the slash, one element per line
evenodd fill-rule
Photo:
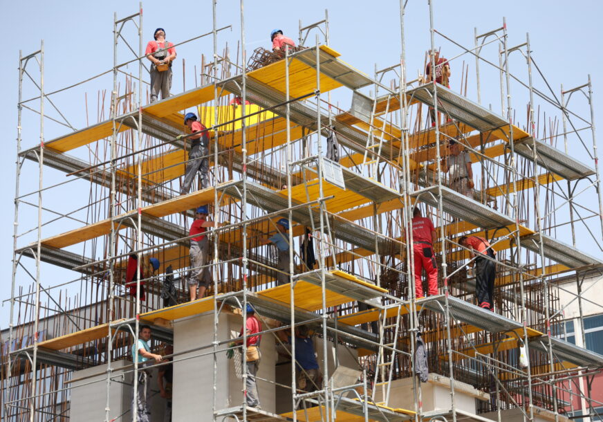
<path fill-rule="evenodd" d="M 259 352 L 261 334 L 259 336 L 254 336 L 254 334 L 257 334 L 261 331 L 261 322 L 259 322 L 257 316 L 255 316 L 255 309 L 253 309 L 253 306 L 247 304 L 245 310 L 247 311 L 247 318 L 245 320 L 245 331 L 247 332 L 247 380 L 245 382 L 244 395 L 248 406 L 261 409 L 255 379 L 257 376 L 257 370 L 259 369 L 259 360 L 261 358 Z M 243 327 L 241 327 L 239 337 L 243 337 Z M 242 344 L 243 340 L 237 340 L 236 342 L 230 343 L 230 347 Z"/>

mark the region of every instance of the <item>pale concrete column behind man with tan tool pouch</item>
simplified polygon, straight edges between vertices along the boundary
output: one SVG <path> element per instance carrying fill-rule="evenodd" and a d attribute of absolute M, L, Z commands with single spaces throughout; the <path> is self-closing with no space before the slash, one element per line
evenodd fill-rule
<path fill-rule="evenodd" d="M 239 315 L 221 314 L 218 324 L 219 340 L 238 337 L 242 324 L 243 319 Z M 211 345 L 213 341 L 213 313 L 205 313 L 174 322 L 174 353 L 176 354 Z M 262 336 L 260 350 L 261 362 L 257 376 L 273 381 L 277 354 L 272 334 Z M 174 421 L 210 420 L 213 388 L 216 388 L 216 409 L 225 409 L 243 403 L 243 382 L 237 377 L 236 357 L 228 360 L 225 351 L 216 355 L 218 376 L 216 385 L 213 386 L 214 358 L 211 352 L 212 348 L 209 347 L 176 357 L 173 392 Z M 187 359 L 182 360 L 183 358 Z M 275 412 L 275 385 L 257 380 L 257 387 L 262 409 Z"/>

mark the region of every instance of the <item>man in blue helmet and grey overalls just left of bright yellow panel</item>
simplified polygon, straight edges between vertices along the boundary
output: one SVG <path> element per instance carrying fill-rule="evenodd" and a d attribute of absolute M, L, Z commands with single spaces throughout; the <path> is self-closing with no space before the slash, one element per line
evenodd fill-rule
<path fill-rule="evenodd" d="M 197 121 L 195 113 L 186 113 L 184 116 L 184 124 L 191 129 L 191 131 L 201 133 L 189 136 L 191 140 L 191 149 L 189 151 L 189 160 L 186 165 L 186 172 L 184 176 L 184 182 L 182 189 L 180 190 L 181 195 L 185 195 L 191 189 L 191 185 L 197 175 L 198 171 L 201 171 L 201 189 L 210 187 L 210 137 L 207 136 L 207 128 L 203 123 Z M 182 139 L 184 135 L 179 135 L 176 139 Z"/>

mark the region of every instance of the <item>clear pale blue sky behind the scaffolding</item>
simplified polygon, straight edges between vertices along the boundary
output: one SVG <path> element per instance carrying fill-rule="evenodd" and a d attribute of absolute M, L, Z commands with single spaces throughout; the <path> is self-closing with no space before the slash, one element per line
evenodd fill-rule
<path fill-rule="evenodd" d="M 306 25 L 324 19 L 324 9 L 328 8 L 330 22 L 331 47 L 342 54 L 349 64 L 372 75 L 375 64 L 384 68 L 396 64 L 400 57 L 400 19 L 398 1 L 315 1 L 274 2 L 245 1 L 245 42 L 250 53 L 258 46 L 268 47 L 270 30 L 281 28 L 286 35 L 297 39 L 299 19 Z M 212 30 L 212 3 L 204 1 L 145 1 L 143 4 L 144 42 L 152 39 L 154 29 L 165 28 L 167 39 L 181 42 Z M 4 280 L 0 287 L 0 298 L 10 296 L 11 259 L 12 259 L 12 221 L 14 219 L 13 199 L 15 196 L 15 153 L 17 135 L 17 62 L 19 50 L 24 54 L 37 51 L 41 39 L 44 39 L 46 91 L 55 91 L 64 86 L 85 80 L 92 75 L 109 70 L 113 64 L 113 13 L 118 18 L 138 11 L 138 1 L 106 0 L 106 1 L 2 1 L 3 28 L 5 33 L 4 62 L 0 68 L 1 78 L 5 81 L 5 95 L 0 104 L 3 116 L 4 147 L 0 154 L 0 165 L 3 169 L 4 189 L 0 193 L 3 206 L 2 232 L 0 241 L 0 257 L 3 262 Z M 439 0 L 434 6 L 435 26 L 440 31 L 464 46 L 473 46 L 474 28 L 479 33 L 487 32 L 502 26 L 503 17 L 507 19 L 509 45 L 521 44 L 530 33 L 532 51 L 541 70 L 545 73 L 550 86 L 559 95 L 560 84 L 566 88 L 583 84 L 587 74 L 593 77 L 595 91 L 595 112 L 603 110 L 602 77 L 603 68 L 602 42 L 600 35 L 600 17 L 603 15 L 603 3 L 600 1 L 575 0 L 570 3 L 561 1 L 483 1 L 483 0 Z M 218 2 L 218 26 L 232 25 L 232 30 L 225 30 L 219 35 L 219 48 L 228 42 L 231 57 L 237 51 L 240 39 L 239 1 L 221 0 Z M 409 0 L 406 16 L 406 48 L 409 79 L 414 79 L 423 66 L 425 51 L 429 47 L 429 9 L 426 0 Z M 133 28 L 124 30 L 124 34 L 133 47 L 138 50 L 138 39 Z M 312 39 L 313 36 L 312 36 Z M 310 43 L 308 43 L 310 44 Z M 437 46 L 442 47 L 443 54 L 453 57 L 461 50 L 439 38 Z M 497 60 L 495 44 L 490 48 L 489 58 Z M 183 89 L 183 64 L 185 59 L 185 87 L 190 89 L 195 84 L 195 65 L 201 63 L 201 54 L 211 57 L 211 37 L 201 39 L 190 45 L 178 48 L 178 58 L 174 65 L 174 89 L 178 93 Z M 510 61 L 512 72 L 527 80 L 525 61 L 521 56 Z M 120 51 L 118 61 L 131 59 L 127 51 Z M 470 66 L 469 95 L 475 93 L 474 58 L 467 55 L 453 62 L 452 89 L 458 91 L 463 60 Z M 33 63 L 32 63 L 33 64 Z M 485 65 L 482 65 L 485 69 Z M 37 78 L 35 66 L 30 66 L 30 75 Z M 127 71 L 138 72 L 138 66 L 129 66 Z M 486 73 L 485 70 L 483 70 Z M 496 111 L 500 109 L 498 73 L 490 69 L 490 76 L 484 75 L 482 91 L 483 104 Z M 535 82 L 539 89 L 545 91 L 546 85 Z M 37 93 L 29 82 L 24 84 L 24 98 L 31 98 Z M 98 121 L 98 92 L 111 90 L 111 77 L 102 77 L 68 93 L 61 93 L 51 99 L 67 120 L 77 129 L 86 123 Z M 520 93 L 513 87 L 514 106 L 517 107 L 518 120 L 523 125 L 526 121 L 526 92 Z M 107 94 L 107 98 L 108 98 Z M 340 106 L 349 107 L 349 102 L 342 98 Z M 108 100 L 106 103 L 108 104 Z M 584 112 L 584 100 L 576 98 L 577 109 Z M 39 109 L 39 102 L 30 104 Z M 55 118 L 58 113 L 46 102 L 46 112 Z M 543 113 L 546 111 L 542 109 Z M 105 111 L 106 112 L 106 111 Z M 24 147 L 39 143 L 39 118 L 31 111 L 24 111 Z M 596 116 L 599 116 L 597 113 Z M 598 127 L 601 119 L 596 117 Z M 68 133 L 69 129 L 53 122 L 46 122 L 46 140 Z M 601 139 L 601 136 L 600 136 Z M 600 140 L 600 143 L 603 143 Z M 579 153 L 578 153 L 579 154 Z M 46 170 L 45 170 L 46 172 Z M 53 172 L 50 182 L 65 180 L 64 176 Z M 37 186 L 37 169 L 33 165 L 24 166 L 21 192 L 28 192 Z M 75 197 L 72 191 L 45 196 L 44 205 L 59 205 L 63 211 L 77 208 L 87 200 Z M 35 197 L 28 201 L 35 203 Z M 596 205 L 596 204 L 593 204 Z M 24 214 L 20 217 L 19 231 L 29 230 L 35 223 L 35 208 L 21 205 Z M 28 210 L 25 210 L 28 208 Z M 46 217 L 46 214 L 45 214 Z M 48 218 L 52 214 L 48 214 Z M 595 222 L 593 221 L 593 225 Z M 53 233 L 54 234 L 54 233 Z M 43 236 L 44 237 L 44 236 Z M 20 241 L 19 245 L 24 242 Z M 600 256 L 600 253 L 593 253 Z M 21 285 L 29 283 L 21 279 Z M 45 281 L 46 285 L 55 284 L 57 280 Z M 0 327 L 7 325 L 8 304 L 0 309 Z"/>

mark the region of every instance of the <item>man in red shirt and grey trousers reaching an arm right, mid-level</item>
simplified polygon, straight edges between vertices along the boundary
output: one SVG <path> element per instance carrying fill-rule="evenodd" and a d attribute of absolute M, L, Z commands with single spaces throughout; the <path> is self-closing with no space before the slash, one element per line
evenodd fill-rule
<path fill-rule="evenodd" d="M 207 221 L 207 205 L 202 205 L 196 209 L 195 221 L 191 224 L 189 236 L 191 238 L 190 259 L 191 273 L 188 279 L 191 301 L 201 299 L 205 296 L 207 287 L 212 282 L 212 275 L 207 264 L 210 263 L 210 242 L 205 236 L 208 227 L 221 227 L 223 223 Z M 197 291 L 198 288 L 198 291 Z"/>

